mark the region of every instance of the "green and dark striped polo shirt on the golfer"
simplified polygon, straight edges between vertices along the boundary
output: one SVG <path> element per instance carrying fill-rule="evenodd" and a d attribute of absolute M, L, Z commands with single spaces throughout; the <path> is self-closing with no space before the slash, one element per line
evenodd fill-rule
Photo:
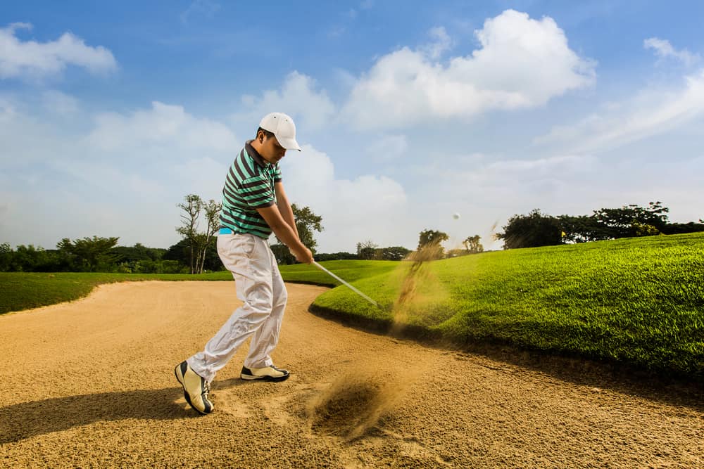
<path fill-rule="evenodd" d="M 278 163 L 272 165 L 262 158 L 251 142 L 247 141 L 227 172 L 220 228 L 267 239 L 272 230 L 256 209 L 276 203 L 274 183 L 281 181 L 281 170 Z"/>

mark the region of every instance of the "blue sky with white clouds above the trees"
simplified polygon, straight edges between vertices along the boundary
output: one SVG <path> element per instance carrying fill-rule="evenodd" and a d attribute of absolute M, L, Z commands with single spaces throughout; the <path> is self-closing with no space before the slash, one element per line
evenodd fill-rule
<path fill-rule="evenodd" d="M 701 1 L 0 4 L 0 243 L 168 248 L 263 115 L 318 252 L 515 214 L 704 218 Z M 460 214 L 455 219 L 453 214 Z M 201 226 L 204 229 L 204 226 Z"/>

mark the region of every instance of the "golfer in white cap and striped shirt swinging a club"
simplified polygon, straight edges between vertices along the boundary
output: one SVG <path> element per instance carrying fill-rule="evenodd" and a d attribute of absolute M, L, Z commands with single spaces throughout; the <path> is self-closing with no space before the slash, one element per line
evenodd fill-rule
<path fill-rule="evenodd" d="M 245 143 L 225 176 L 218 255 L 232 272 L 237 297 L 244 304 L 202 352 L 176 366 L 186 401 L 202 414 L 213 411 L 208 393 L 215 373 L 249 337 L 241 378 L 283 381 L 289 377 L 271 359 L 287 293 L 268 238 L 273 231 L 298 262 L 310 264 L 313 255 L 298 238 L 294 212 L 284 192 L 279 160 L 287 150 L 301 150 L 294 121 L 283 113 L 265 115 L 256 138 Z"/>

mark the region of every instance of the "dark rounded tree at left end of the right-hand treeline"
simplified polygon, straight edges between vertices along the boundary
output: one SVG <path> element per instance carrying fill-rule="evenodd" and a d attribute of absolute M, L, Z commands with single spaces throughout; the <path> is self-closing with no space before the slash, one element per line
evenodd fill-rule
<path fill-rule="evenodd" d="M 496 233 L 496 238 L 503 239 L 504 249 L 562 244 L 562 229 L 558 219 L 543 215 L 539 209 L 534 209 L 527 215 L 514 215 L 503 229 L 503 233 Z"/>

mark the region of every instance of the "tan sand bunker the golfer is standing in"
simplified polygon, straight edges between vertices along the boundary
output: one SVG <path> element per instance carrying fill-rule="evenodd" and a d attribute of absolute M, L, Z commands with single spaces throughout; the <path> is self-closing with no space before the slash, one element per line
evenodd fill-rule
<path fill-rule="evenodd" d="M 102 285 L 0 316 L 2 467 L 704 467 L 701 395 L 598 371 L 521 368 L 310 314 L 289 284 L 275 364 L 241 349 L 187 408 L 173 367 L 239 304 L 232 282 Z"/>

